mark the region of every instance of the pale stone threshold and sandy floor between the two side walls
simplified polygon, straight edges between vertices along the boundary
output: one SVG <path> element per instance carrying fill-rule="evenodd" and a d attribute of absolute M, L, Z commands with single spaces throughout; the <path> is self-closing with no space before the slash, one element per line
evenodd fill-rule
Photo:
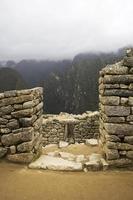
<path fill-rule="evenodd" d="M 98 171 L 106 170 L 108 164 L 102 158 L 96 139 L 86 144 L 60 142 L 43 148 L 43 154 L 29 165 L 33 169 L 49 169 L 61 171 Z"/>

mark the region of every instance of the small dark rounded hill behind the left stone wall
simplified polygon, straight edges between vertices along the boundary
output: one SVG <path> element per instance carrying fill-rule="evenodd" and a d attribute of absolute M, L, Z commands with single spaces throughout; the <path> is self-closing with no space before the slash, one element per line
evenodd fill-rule
<path fill-rule="evenodd" d="M 15 69 L 0 68 L 0 92 L 24 88 L 27 88 L 27 85 Z"/>

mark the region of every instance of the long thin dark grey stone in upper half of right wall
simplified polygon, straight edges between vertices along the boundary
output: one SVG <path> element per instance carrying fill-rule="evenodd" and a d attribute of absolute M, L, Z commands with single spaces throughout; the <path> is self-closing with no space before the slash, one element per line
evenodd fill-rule
<path fill-rule="evenodd" d="M 127 89 L 111 89 L 104 91 L 105 96 L 133 97 L 133 91 Z"/>

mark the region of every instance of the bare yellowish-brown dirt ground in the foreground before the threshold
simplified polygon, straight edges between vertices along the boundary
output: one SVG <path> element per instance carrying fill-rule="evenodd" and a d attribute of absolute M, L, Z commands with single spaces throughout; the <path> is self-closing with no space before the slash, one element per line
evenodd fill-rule
<path fill-rule="evenodd" d="M 133 172 L 53 172 L 0 162 L 0 200 L 133 200 Z"/>

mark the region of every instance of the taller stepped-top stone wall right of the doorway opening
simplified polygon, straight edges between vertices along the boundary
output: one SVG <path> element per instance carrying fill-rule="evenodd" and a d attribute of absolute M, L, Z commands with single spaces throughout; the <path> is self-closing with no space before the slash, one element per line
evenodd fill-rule
<path fill-rule="evenodd" d="M 100 72 L 100 144 L 110 166 L 133 163 L 133 51 Z"/>

